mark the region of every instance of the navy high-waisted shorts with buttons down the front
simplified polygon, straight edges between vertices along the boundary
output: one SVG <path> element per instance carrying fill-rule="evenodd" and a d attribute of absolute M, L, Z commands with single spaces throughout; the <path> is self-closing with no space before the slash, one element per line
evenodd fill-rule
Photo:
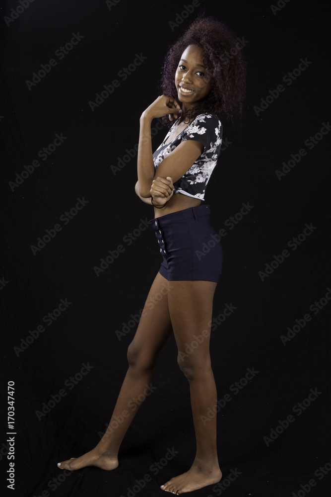
<path fill-rule="evenodd" d="M 168 281 L 217 283 L 223 262 L 219 235 L 210 226 L 209 205 L 171 212 L 149 221 L 163 261 L 159 272 Z"/>

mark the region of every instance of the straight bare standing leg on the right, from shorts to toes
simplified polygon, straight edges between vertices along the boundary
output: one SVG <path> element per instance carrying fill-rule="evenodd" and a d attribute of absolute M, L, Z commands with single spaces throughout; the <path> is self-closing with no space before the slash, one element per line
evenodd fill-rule
<path fill-rule="evenodd" d="M 216 449 L 216 416 L 203 422 L 208 408 L 212 409 L 217 401 L 209 355 L 212 301 L 216 283 L 171 283 L 172 288 L 168 294 L 169 311 L 178 346 L 178 363 L 190 383 L 197 452 L 190 470 L 172 478 L 161 488 L 174 494 L 183 494 L 217 483 L 222 477 Z"/>

